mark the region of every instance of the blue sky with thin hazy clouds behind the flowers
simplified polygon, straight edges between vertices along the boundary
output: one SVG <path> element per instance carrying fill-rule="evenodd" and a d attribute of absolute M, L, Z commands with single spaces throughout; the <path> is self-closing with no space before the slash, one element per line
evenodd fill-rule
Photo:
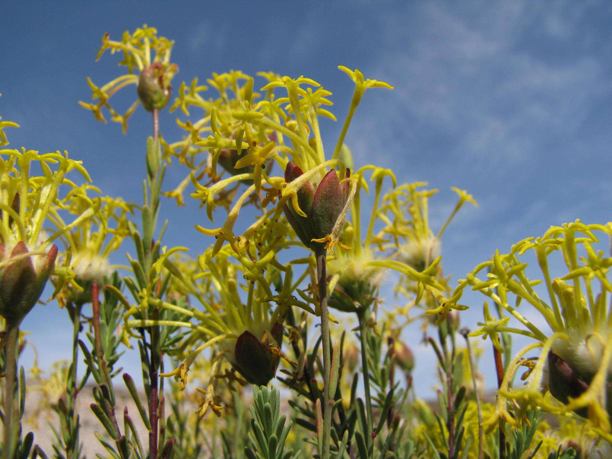
<path fill-rule="evenodd" d="M 95 62 L 104 32 L 120 37 L 143 23 L 176 40 L 180 81 L 230 69 L 305 75 L 334 94 L 343 120 L 353 84 L 337 65 L 387 81 L 393 91 L 368 91 L 346 143 L 357 165 L 392 167 L 401 182 L 427 181 L 441 192 L 431 202 L 433 228 L 452 210 L 451 186 L 467 189 L 480 207 L 461 211 L 442 240 L 444 268 L 463 277 L 496 248 L 507 251 L 550 225 L 581 218 L 610 220 L 612 183 L 612 7 L 595 1 L 376 2 L 6 2 L 2 6 L 0 116 L 10 146 L 67 150 L 83 160 L 108 195 L 141 201 L 143 146 L 149 116 L 141 108 L 127 136 L 78 105 L 90 100 L 86 76 L 103 84 L 121 75 L 117 56 Z M 121 99 L 124 97 L 124 99 Z M 118 97 L 127 108 L 135 94 Z M 177 138 L 179 113 L 162 114 L 166 139 Z M 324 122 L 327 149 L 341 121 Z M 184 177 L 172 168 L 166 189 Z M 195 203 L 176 209 L 167 245 L 194 251 L 211 243 L 193 230 L 206 224 Z M 439 223 L 438 223 L 439 222 Z M 437 226 L 436 226 L 437 223 Z M 187 238 L 187 242 L 185 242 Z M 129 250 L 126 243 L 119 251 Z M 464 323 L 482 317 L 473 297 Z M 389 296 L 389 302 L 393 298 Z M 69 323 L 54 304 L 37 306 L 24 328 L 41 364 L 69 355 Z M 415 330 L 406 337 L 417 346 Z M 487 348 L 489 346 L 487 345 Z M 431 375 L 427 349 L 417 365 Z M 486 357 L 485 357 L 486 358 Z M 24 356 L 31 362 L 31 353 Z M 493 376 L 487 373 L 488 385 Z"/>

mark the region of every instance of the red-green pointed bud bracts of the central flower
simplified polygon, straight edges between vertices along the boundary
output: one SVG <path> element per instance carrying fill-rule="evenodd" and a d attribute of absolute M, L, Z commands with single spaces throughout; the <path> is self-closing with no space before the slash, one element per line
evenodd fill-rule
<path fill-rule="evenodd" d="M 285 169 L 285 182 L 292 182 L 302 174 L 298 166 L 289 162 Z M 313 184 L 307 182 L 297 190 L 297 203 L 307 217 L 297 214 L 290 202 L 285 204 L 284 211 L 289 224 L 300 241 L 313 252 L 324 250 L 325 244 L 313 242 L 312 239 L 322 239 L 331 234 L 340 217 L 346 202 L 343 188 L 338 180 L 338 174 L 335 170 L 331 170 L 323 177 L 318 187 L 315 188 Z"/>

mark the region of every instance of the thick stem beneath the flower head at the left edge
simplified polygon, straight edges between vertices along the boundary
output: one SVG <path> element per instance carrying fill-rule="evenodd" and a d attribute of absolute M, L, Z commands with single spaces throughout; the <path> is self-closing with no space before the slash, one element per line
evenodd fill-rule
<path fill-rule="evenodd" d="M 17 385 L 17 345 L 19 338 L 19 325 L 6 325 L 6 364 L 4 367 L 4 459 L 13 459 L 17 446 L 17 425 L 19 413 L 15 403 L 15 390 Z"/>

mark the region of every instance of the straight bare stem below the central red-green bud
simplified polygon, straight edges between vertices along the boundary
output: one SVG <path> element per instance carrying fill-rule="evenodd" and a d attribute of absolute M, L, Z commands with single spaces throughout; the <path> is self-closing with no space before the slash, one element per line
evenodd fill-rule
<path fill-rule="evenodd" d="M 329 353 L 329 314 L 327 313 L 327 251 L 316 253 L 316 277 L 319 286 L 319 304 L 321 305 L 321 335 L 323 337 L 323 451 L 321 459 L 329 459 L 329 446 L 332 429 L 332 406 L 329 403 L 329 379 L 331 374 L 331 356 Z"/>

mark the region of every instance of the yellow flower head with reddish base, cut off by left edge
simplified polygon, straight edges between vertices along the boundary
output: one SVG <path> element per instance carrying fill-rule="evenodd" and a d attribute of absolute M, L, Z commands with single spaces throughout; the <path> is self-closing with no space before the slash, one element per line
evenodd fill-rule
<path fill-rule="evenodd" d="M 48 236 L 43 225 L 51 219 L 61 184 L 74 186 L 65 174 L 76 169 L 89 180 L 80 162 L 61 154 L 22 148 L 0 150 L 0 315 L 9 325 L 18 326 L 39 300 L 48 278 L 53 272 L 58 247 L 51 245 L 58 237 L 92 218 L 99 203 L 81 213 Z M 38 163 L 43 176 L 31 177 L 32 163 Z M 58 164 L 56 171 L 49 164 Z"/>

